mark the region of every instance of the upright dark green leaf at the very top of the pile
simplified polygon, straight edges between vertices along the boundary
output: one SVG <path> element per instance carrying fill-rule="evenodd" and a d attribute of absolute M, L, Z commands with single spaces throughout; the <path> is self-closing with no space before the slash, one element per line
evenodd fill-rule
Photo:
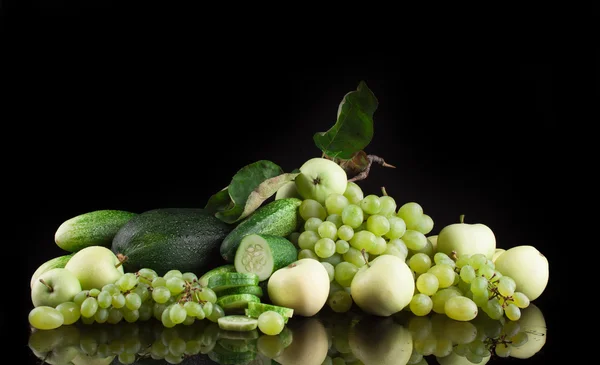
<path fill-rule="evenodd" d="M 327 156 L 350 159 L 373 138 L 373 114 L 379 102 L 361 81 L 355 91 L 347 93 L 338 107 L 337 121 L 327 132 L 315 133 L 315 144 Z"/>

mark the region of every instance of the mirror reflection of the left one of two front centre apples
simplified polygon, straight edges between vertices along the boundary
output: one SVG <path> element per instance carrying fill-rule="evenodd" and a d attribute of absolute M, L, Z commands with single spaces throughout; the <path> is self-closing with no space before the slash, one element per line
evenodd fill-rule
<path fill-rule="evenodd" d="M 273 360 L 281 365 L 323 364 L 329 349 L 329 335 L 323 323 L 315 317 L 299 318 L 290 320 L 287 326 L 292 332 L 293 341 Z"/>

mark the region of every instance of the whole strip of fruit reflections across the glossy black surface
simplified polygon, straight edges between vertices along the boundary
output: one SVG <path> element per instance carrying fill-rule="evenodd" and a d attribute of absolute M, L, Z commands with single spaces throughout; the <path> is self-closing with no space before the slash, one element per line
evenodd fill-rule
<path fill-rule="evenodd" d="M 173 328 L 149 320 L 69 325 L 29 337 L 33 355 L 52 365 L 472 365 L 530 358 L 545 343 L 546 322 L 533 304 L 517 322 L 485 314 L 459 322 L 439 314 L 320 313 L 293 318 L 277 336 L 224 331 L 208 320 Z"/>

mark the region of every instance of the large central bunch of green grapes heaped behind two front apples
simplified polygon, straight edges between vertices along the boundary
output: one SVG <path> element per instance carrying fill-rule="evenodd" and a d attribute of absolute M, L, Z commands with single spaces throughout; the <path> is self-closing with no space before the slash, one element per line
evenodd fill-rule
<path fill-rule="evenodd" d="M 348 182 L 344 194 L 330 194 L 324 204 L 304 199 L 299 211 L 303 224 L 290 240 L 298 247 L 298 259 L 319 260 L 327 269 L 332 284 L 327 303 L 336 312 L 352 307 L 350 284 L 359 268 L 379 255 L 405 260 L 409 250 L 426 249 L 425 235 L 433 229 L 433 219 L 418 203 L 398 208 L 385 189 L 365 196 L 355 182 Z"/>

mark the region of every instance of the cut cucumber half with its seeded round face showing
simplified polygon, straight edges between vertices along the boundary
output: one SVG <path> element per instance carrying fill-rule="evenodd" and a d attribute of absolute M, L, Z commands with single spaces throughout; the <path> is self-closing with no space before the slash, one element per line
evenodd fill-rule
<path fill-rule="evenodd" d="M 238 246 L 234 265 L 240 273 L 255 273 L 259 281 L 267 280 L 276 270 L 298 260 L 298 250 L 281 236 L 249 234 Z"/>

